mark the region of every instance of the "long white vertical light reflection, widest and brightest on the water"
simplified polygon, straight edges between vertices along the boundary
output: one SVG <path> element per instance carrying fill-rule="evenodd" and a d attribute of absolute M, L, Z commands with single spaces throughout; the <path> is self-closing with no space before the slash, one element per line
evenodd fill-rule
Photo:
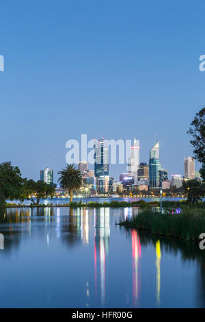
<path fill-rule="evenodd" d="M 94 274 L 95 293 L 98 296 L 98 268 L 100 269 L 100 301 L 105 304 L 105 269 L 106 258 L 109 254 L 109 208 L 94 210 Z"/>

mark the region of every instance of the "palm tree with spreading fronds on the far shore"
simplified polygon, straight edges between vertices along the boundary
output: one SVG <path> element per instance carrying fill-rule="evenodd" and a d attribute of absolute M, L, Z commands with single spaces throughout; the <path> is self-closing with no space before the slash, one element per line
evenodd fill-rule
<path fill-rule="evenodd" d="M 68 191 L 71 203 L 73 190 L 79 190 L 83 185 L 81 171 L 77 170 L 74 164 L 67 164 L 66 168 L 61 169 L 57 174 L 60 175 L 58 182 L 62 188 Z"/>

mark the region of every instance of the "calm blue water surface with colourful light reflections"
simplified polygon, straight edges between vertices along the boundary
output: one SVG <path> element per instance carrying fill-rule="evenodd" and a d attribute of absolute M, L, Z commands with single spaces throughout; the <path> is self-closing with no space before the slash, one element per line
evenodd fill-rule
<path fill-rule="evenodd" d="M 115 225 L 137 208 L 1 215 L 2 308 L 205 307 L 205 251 Z"/>

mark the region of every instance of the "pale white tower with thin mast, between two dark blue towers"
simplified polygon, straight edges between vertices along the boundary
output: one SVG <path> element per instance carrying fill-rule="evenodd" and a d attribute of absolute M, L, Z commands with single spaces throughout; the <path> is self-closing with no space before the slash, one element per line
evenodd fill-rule
<path fill-rule="evenodd" d="M 128 160 L 128 173 L 137 182 L 137 170 L 139 168 L 139 140 L 134 138 L 133 145 L 131 147 L 131 156 Z"/>

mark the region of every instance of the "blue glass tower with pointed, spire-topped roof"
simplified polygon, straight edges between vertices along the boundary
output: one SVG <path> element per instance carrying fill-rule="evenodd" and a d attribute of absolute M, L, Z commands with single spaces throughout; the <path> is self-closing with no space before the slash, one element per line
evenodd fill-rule
<path fill-rule="evenodd" d="M 150 150 L 149 160 L 149 180 L 151 189 L 161 188 L 159 171 L 161 170 L 161 162 L 159 160 L 159 141 Z"/>

